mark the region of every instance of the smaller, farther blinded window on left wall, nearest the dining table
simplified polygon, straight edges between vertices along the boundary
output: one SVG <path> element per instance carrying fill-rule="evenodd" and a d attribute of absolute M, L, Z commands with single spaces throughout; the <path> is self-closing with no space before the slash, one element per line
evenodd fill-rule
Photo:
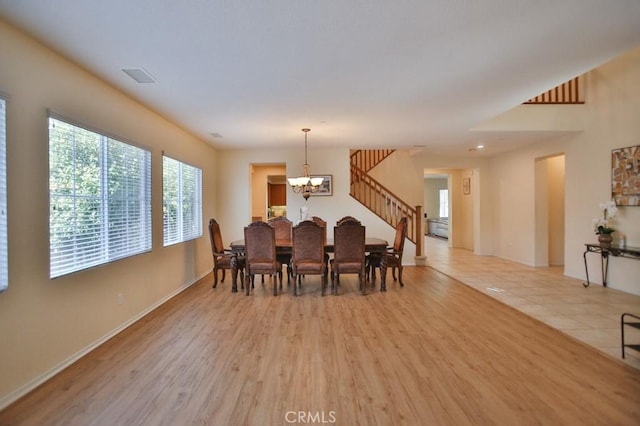
<path fill-rule="evenodd" d="M 202 170 L 173 158 L 162 158 L 164 245 L 202 235 Z"/>

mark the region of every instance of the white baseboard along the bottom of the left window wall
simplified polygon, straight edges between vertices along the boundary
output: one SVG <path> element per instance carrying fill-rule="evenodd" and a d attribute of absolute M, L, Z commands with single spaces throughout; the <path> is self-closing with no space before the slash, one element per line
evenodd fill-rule
<path fill-rule="evenodd" d="M 64 361 L 60 362 L 55 367 L 51 368 L 48 371 L 45 371 L 44 373 L 42 373 L 42 374 L 38 375 L 37 377 L 35 377 L 33 380 L 29 381 L 28 383 L 24 384 L 23 386 L 20 386 L 19 388 L 17 388 L 13 392 L 10 392 L 7 395 L 5 395 L 4 397 L 0 398 L 0 410 L 3 410 L 4 408 L 9 406 L 13 402 L 15 402 L 18 399 L 22 398 L 24 395 L 26 395 L 27 393 L 31 392 L 32 390 L 34 390 L 35 388 L 37 388 L 38 386 L 40 386 L 41 384 L 43 384 L 44 382 L 46 382 L 47 380 L 49 380 L 50 378 L 55 376 L 56 374 L 60 373 L 62 370 L 64 370 L 65 368 L 67 368 L 68 366 L 70 366 L 71 364 L 73 364 L 74 362 L 76 362 L 77 360 L 82 358 L 83 356 L 87 355 L 89 352 L 91 352 L 92 350 L 94 350 L 98 346 L 102 345 L 107 340 L 111 339 L 112 337 L 114 337 L 115 335 L 117 335 L 118 333 L 120 333 L 121 331 L 123 331 L 124 329 L 129 327 L 130 325 L 134 324 L 136 321 L 139 321 L 141 318 L 145 317 L 146 315 L 148 315 L 149 313 L 151 313 L 152 311 L 154 311 L 155 309 L 157 309 L 161 305 L 165 304 L 167 301 L 171 300 L 172 298 L 174 298 L 178 294 L 182 293 L 184 290 L 186 290 L 187 288 L 191 287 L 193 284 L 195 284 L 198 281 L 200 281 L 202 278 L 204 278 L 210 272 L 211 271 L 207 271 L 203 275 L 193 279 L 191 282 L 183 285 L 182 287 L 179 287 L 178 289 L 176 289 L 175 291 L 173 291 L 172 293 L 170 293 L 166 297 L 160 299 L 158 302 L 154 303 L 153 305 L 151 305 L 150 307 L 148 307 L 144 311 L 140 312 L 138 315 L 130 318 L 129 320 L 127 320 L 123 324 L 120 324 L 117 328 L 111 330 L 109 333 L 105 334 L 104 336 L 102 336 L 98 340 L 92 342 L 88 346 L 85 346 L 84 348 L 82 348 L 81 350 L 76 352 L 75 354 L 71 355 L 69 358 L 67 358 Z"/>

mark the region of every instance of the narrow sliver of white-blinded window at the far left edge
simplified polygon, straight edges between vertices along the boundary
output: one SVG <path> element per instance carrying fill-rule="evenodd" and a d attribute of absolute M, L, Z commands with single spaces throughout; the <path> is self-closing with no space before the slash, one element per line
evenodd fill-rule
<path fill-rule="evenodd" d="M 7 102 L 0 98 L 0 291 L 9 286 L 7 249 Z"/>

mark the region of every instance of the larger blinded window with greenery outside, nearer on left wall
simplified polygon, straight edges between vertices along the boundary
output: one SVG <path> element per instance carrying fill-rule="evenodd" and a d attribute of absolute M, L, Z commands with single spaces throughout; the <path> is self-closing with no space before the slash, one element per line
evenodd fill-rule
<path fill-rule="evenodd" d="M 151 250 L 151 153 L 49 118 L 50 275 Z"/>

